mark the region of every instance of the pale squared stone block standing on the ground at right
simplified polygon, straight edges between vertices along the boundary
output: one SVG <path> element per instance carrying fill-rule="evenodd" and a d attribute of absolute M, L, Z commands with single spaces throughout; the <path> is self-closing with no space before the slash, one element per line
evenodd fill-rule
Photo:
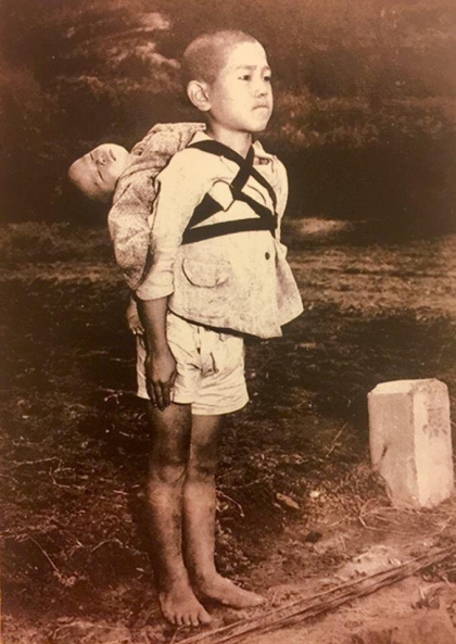
<path fill-rule="evenodd" d="M 396 507 L 433 507 L 454 489 L 448 390 L 432 379 L 368 394 L 370 456 Z"/>

